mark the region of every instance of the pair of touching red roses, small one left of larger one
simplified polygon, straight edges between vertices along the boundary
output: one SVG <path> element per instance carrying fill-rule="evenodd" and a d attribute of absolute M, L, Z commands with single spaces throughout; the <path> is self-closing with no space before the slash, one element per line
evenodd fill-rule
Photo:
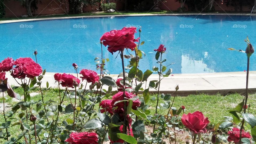
<path fill-rule="evenodd" d="M 56 81 L 60 82 L 62 87 L 74 88 L 73 87 L 74 82 L 76 82 L 77 85 L 79 85 L 79 83 L 80 83 L 80 80 L 77 77 L 70 75 L 70 74 L 66 74 L 66 73 L 63 73 L 63 74 L 55 73 L 54 79 Z"/>

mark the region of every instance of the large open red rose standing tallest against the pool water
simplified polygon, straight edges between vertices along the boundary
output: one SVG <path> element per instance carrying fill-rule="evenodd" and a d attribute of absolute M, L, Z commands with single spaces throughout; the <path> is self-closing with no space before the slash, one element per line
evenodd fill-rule
<path fill-rule="evenodd" d="M 117 51 L 123 51 L 125 48 L 134 50 L 138 39 L 134 39 L 135 27 L 124 27 L 122 30 L 112 30 L 106 32 L 100 38 L 103 41 L 103 45 L 107 47 L 107 50 L 112 53 Z"/>

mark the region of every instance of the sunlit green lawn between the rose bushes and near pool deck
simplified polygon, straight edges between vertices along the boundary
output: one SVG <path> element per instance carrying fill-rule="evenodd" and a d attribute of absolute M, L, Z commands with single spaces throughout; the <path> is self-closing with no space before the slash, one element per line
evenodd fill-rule
<path fill-rule="evenodd" d="M 22 97 L 23 89 L 18 88 L 15 89 L 15 92 L 19 93 Z M 31 91 L 32 92 L 39 92 L 38 90 Z M 58 95 L 58 89 L 50 89 L 44 94 L 44 101 L 53 100 L 58 102 L 59 101 L 59 95 Z M 154 114 L 156 100 L 153 100 L 154 96 L 151 96 L 151 99 L 149 101 L 149 110 L 151 111 L 151 114 Z M 234 108 L 239 102 L 242 101 L 244 96 L 240 94 L 229 94 L 226 96 L 222 96 L 219 94 L 216 95 L 189 95 L 186 97 L 177 96 L 174 101 L 174 106 L 176 108 L 179 108 L 180 106 L 184 105 L 186 107 L 185 113 L 192 113 L 197 110 L 201 111 L 206 117 L 209 118 L 210 121 L 210 127 L 217 124 L 218 122 L 224 120 L 224 116 L 229 116 L 227 110 L 230 108 Z M 172 97 L 173 98 L 173 97 Z M 41 94 L 38 94 L 37 96 L 31 97 L 31 101 L 38 101 L 41 100 Z M 74 100 L 74 99 L 73 99 Z M 72 101 L 73 101 L 72 100 Z M 65 98 L 64 105 L 69 104 L 69 98 Z M 160 101 L 161 103 L 161 101 Z M 16 102 L 13 102 L 10 97 L 6 100 L 6 104 L 13 106 L 16 104 Z M 256 115 L 256 97 L 254 94 L 251 94 L 248 100 L 248 104 L 251 105 L 250 107 L 250 113 L 252 113 L 254 116 Z M 95 106 L 96 110 L 98 108 L 98 104 Z M 33 107 L 35 109 L 35 106 Z M 167 109 L 160 109 L 159 114 L 167 114 Z M 18 114 L 21 112 L 21 110 L 18 110 L 16 114 L 14 114 L 13 117 L 18 118 Z M 2 113 L 2 112 L 1 112 Z M 55 116 L 53 116 L 55 119 Z M 60 121 L 65 120 L 66 118 L 72 118 L 73 114 L 65 114 L 60 116 Z M 18 118 L 19 119 L 19 118 Z M 10 120 L 10 119 L 9 119 Z M 17 120 L 13 119 L 10 120 L 11 125 L 17 122 Z M 4 122 L 3 114 L 0 115 L 0 123 Z M 246 126 L 246 129 L 249 129 L 250 125 Z M 20 134 L 20 131 L 18 131 L 19 126 L 13 126 L 10 127 L 8 130 L 11 133 L 11 136 Z M 0 139 L 0 143 L 4 142 L 3 139 Z"/>

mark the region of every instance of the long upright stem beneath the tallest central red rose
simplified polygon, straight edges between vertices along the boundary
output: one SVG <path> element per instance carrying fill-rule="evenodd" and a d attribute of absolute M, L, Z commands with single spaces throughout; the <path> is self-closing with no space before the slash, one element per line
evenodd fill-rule
<path fill-rule="evenodd" d="M 123 87 L 124 87 L 124 89 L 123 89 L 123 100 L 125 100 L 125 65 L 124 65 L 124 62 L 123 62 L 123 51 L 121 51 L 120 55 L 121 55 L 121 59 L 122 59 L 122 68 L 123 68 Z M 124 118 L 124 126 L 123 126 L 123 133 L 127 133 L 127 129 L 126 129 L 127 128 L 126 101 L 124 101 L 123 109 L 124 109 L 123 113 L 124 113 L 124 116 L 125 116 L 125 118 Z"/>

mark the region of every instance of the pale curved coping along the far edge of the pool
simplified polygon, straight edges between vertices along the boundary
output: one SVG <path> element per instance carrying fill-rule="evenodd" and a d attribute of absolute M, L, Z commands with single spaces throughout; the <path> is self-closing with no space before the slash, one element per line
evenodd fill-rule
<path fill-rule="evenodd" d="M 33 22 L 41 20 L 58 20 L 58 19 L 79 19 L 79 18 L 98 18 L 98 17 L 129 17 L 129 16 L 175 16 L 175 15 L 247 15 L 251 14 L 241 14 L 241 13 L 187 13 L 187 14 L 122 14 L 122 15 L 90 15 L 90 16 L 72 16 L 72 17 L 51 17 L 51 18 L 32 18 L 32 19 L 17 19 L 17 20 L 3 20 L 0 24 L 4 23 L 16 23 L 16 22 Z"/>

